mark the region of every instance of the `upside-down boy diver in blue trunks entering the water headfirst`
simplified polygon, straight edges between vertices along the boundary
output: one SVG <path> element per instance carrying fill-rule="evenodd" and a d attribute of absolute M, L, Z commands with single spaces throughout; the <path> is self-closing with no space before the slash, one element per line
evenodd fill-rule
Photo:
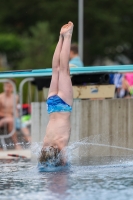
<path fill-rule="evenodd" d="M 64 149 L 68 145 L 71 132 L 73 89 L 69 57 L 73 27 L 72 22 L 62 26 L 53 55 L 52 79 L 47 98 L 49 122 L 39 156 L 40 163 L 54 163 L 55 166 L 65 166 L 67 163 Z"/>

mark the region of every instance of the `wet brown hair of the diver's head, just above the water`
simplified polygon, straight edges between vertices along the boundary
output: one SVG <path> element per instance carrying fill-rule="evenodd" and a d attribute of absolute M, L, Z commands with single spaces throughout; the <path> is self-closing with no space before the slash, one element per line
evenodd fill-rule
<path fill-rule="evenodd" d="M 62 165 L 60 150 L 53 146 L 42 148 L 39 162 L 52 164 L 54 166 Z"/>

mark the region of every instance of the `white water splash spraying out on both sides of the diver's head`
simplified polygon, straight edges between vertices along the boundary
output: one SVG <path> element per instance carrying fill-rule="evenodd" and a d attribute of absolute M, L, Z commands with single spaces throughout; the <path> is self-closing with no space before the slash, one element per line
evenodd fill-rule
<path fill-rule="evenodd" d="M 122 147 L 122 146 L 118 146 L 118 145 L 110 145 L 109 142 L 107 140 L 104 141 L 104 143 L 100 143 L 100 137 L 101 135 L 95 135 L 95 136 L 91 136 L 88 138 L 84 138 L 80 141 L 76 141 L 73 143 L 70 143 L 67 147 L 65 147 L 63 149 L 63 151 L 65 152 L 65 159 L 71 163 L 73 160 L 81 160 L 82 157 L 87 157 L 88 155 L 90 156 L 90 154 L 98 152 L 99 153 L 99 148 L 102 149 L 100 156 L 104 157 L 104 152 L 106 151 L 106 148 L 111 148 L 111 149 L 115 149 L 118 150 L 118 152 L 121 152 L 121 150 L 123 150 L 123 152 L 126 153 L 126 151 L 128 151 L 128 157 L 129 156 L 133 156 L 133 149 L 132 148 L 126 148 L 126 147 Z M 80 148 L 82 147 L 82 152 L 80 151 L 77 152 Z M 87 151 L 86 148 L 89 148 L 91 151 Z M 30 146 L 30 149 L 32 151 L 32 153 L 38 158 L 42 149 L 42 142 L 40 143 L 32 143 Z M 93 150 L 92 150 L 93 149 Z M 129 155 L 130 154 L 130 155 Z M 119 155 L 119 153 L 118 153 Z M 115 154 L 115 156 L 117 156 L 117 153 Z M 119 159 L 120 162 L 121 158 Z"/>

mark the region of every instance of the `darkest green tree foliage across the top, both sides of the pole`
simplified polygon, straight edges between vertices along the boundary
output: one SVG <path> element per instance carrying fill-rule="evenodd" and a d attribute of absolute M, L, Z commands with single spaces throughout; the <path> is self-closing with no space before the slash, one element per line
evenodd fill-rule
<path fill-rule="evenodd" d="M 132 0 L 84 0 L 85 65 L 93 64 L 97 57 L 115 60 L 120 54 L 133 60 L 132 7 Z M 73 41 L 78 40 L 78 0 L 1 0 L 0 13 L 1 33 L 22 35 L 37 22 L 47 21 L 49 33 L 57 40 L 60 27 L 71 20 L 75 25 Z"/>

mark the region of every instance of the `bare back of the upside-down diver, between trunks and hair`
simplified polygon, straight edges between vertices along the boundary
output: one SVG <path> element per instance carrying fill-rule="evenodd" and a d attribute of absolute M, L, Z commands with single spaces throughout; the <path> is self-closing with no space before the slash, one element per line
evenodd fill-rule
<path fill-rule="evenodd" d="M 67 146 L 70 137 L 70 113 L 51 113 L 44 137 L 44 146 Z"/>

